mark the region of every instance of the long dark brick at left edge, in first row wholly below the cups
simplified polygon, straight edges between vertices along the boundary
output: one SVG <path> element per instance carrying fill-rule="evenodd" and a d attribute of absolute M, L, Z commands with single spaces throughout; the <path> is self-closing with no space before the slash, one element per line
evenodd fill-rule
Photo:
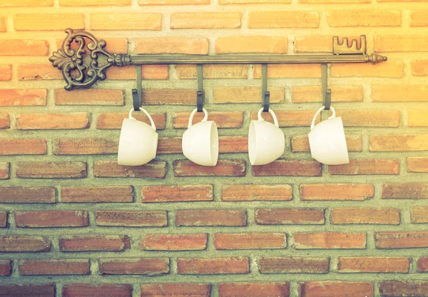
<path fill-rule="evenodd" d="M 55 188 L 0 188 L 0 203 L 55 203 Z"/>

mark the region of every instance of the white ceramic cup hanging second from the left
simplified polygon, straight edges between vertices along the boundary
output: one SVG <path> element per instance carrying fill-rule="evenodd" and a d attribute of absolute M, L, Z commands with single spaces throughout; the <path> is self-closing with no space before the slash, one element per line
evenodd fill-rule
<path fill-rule="evenodd" d="M 208 112 L 203 109 L 203 120 L 192 126 L 196 111 L 190 114 L 188 129 L 183 134 L 183 154 L 199 165 L 215 166 L 218 160 L 217 125 L 215 121 L 207 121 Z"/>

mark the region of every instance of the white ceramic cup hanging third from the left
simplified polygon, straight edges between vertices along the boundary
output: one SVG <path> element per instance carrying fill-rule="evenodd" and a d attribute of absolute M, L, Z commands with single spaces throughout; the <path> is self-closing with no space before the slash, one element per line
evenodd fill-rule
<path fill-rule="evenodd" d="M 248 155 L 251 165 L 264 165 L 275 161 L 282 156 L 285 149 L 284 132 L 278 125 L 275 113 L 269 109 L 274 125 L 262 118 L 262 111 L 263 108 L 258 111 L 258 120 L 251 121 L 248 132 Z"/>

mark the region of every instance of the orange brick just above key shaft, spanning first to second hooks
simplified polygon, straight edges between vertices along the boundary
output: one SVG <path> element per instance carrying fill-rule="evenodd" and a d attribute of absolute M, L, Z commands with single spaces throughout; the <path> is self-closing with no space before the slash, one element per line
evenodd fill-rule
<path fill-rule="evenodd" d="M 185 37 L 136 38 L 137 54 L 208 54 L 208 39 Z"/>

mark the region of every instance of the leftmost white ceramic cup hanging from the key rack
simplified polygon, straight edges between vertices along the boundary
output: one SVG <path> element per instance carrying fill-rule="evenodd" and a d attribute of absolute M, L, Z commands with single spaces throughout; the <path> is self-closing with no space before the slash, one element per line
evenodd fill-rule
<path fill-rule="evenodd" d="M 120 165 L 146 164 L 156 157 L 158 149 L 158 134 L 150 114 L 141 109 L 150 119 L 151 126 L 133 118 L 133 111 L 134 109 L 129 111 L 129 118 L 123 119 L 122 123 L 118 149 L 118 164 Z"/>

